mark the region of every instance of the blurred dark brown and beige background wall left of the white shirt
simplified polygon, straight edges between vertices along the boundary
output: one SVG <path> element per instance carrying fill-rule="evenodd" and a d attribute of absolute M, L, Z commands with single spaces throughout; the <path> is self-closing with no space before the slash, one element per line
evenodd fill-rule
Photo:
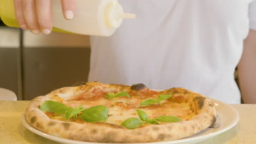
<path fill-rule="evenodd" d="M 87 82 L 88 35 L 33 35 L 0 20 L 0 87 L 18 100 L 31 100 L 54 89 Z"/>

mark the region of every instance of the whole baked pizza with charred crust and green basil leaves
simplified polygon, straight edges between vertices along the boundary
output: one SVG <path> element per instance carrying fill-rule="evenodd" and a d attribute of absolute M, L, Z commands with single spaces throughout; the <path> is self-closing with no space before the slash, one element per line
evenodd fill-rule
<path fill-rule="evenodd" d="M 88 82 L 32 99 L 25 117 L 34 128 L 69 140 L 144 143 L 194 135 L 217 115 L 212 100 L 188 89 Z"/>

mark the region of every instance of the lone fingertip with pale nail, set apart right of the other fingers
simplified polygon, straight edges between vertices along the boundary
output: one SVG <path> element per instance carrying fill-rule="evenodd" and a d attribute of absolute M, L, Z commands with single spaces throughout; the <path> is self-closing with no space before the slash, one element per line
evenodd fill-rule
<path fill-rule="evenodd" d="M 61 0 L 62 12 L 67 20 L 71 20 L 74 17 L 75 12 L 75 0 Z"/>

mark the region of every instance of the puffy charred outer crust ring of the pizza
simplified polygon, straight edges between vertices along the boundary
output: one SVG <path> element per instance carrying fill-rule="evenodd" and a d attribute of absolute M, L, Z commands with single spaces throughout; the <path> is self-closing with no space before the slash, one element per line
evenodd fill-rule
<path fill-rule="evenodd" d="M 91 93 L 94 88 L 131 91 L 130 86 L 104 85 L 99 82 L 89 82 L 81 86 L 60 88 L 45 96 L 34 98 L 31 101 L 25 112 L 27 122 L 44 133 L 70 140 L 103 143 L 143 143 L 182 139 L 205 130 L 216 121 L 214 103 L 201 94 L 183 88 L 166 89 L 160 93 L 172 93 L 173 98 L 183 95 L 185 99 L 178 102 L 188 103 L 191 107 L 190 109 L 196 113 L 194 117 L 189 119 L 189 121 L 177 123 L 160 125 L 143 124 L 133 130 L 106 122 L 84 124 L 71 121 L 63 122 L 50 119 L 40 110 L 40 105 L 43 104 L 45 100 L 53 100 L 53 98 L 56 97 L 55 95 L 59 95 L 59 97 L 68 100 L 82 93 Z M 132 91 L 143 91 L 145 88 L 146 87 L 141 87 L 141 89 L 139 89 L 137 87 L 137 89 L 133 89 Z M 90 97 L 95 97 L 95 95 L 91 94 Z M 57 99 L 55 101 L 57 101 Z"/>

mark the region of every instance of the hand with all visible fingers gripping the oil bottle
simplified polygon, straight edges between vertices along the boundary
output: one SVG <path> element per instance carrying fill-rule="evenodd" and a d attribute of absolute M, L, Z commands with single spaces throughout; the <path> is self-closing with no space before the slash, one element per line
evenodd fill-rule
<path fill-rule="evenodd" d="M 58 0 L 13 0 L 16 19 L 22 29 L 30 29 L 33 34 L 50 34 L 53 30 L 51 1 Z M 75 0 L 61 0 L 63 16 L 73 19 Z"/>

